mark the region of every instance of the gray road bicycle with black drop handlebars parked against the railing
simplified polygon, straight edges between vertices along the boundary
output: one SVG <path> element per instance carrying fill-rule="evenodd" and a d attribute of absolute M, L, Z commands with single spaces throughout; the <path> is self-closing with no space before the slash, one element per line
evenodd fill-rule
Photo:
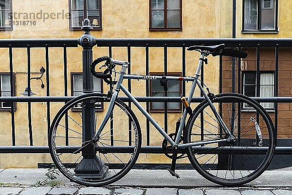
<path fill-rule="evenodd" d="M 179 177 L 175 172 L 176 160 L 185 157 L 184 153 L 203 177 L 219 185 L 238 186 L 261 175 L 275 149 L 271 118 L 259 103 L 247 96 L 214 95 L 207 87 L 205 91 L 200 83 L 201 66 L 203 62 L 207 64 L 205 57 L 209 54 L 247 57 L 247 53 L 224 47 L 221 44 L 187 48 L 200 52 L 201 56 L 195 76 L 186 77 L 127 74 L 127 61 L 107 56 L 94 60 L 93 76 L 104 79 L 110 91 L 80 95 L 58 111 L 49 133 L 50 154 L 57 168 L 76 183 L 103 186 L 124 177 L 133 167 L 141 150 L 141 128 L 131 108 L 117 98 L 121 90 L 164 137 L 164 153 L 172 159 L 168 169 L 172 176 Z M 97 73 L 95 66 L 101 62 L 105 64 L 100 69 L 106 67 L 106 70 Z M 116 71 L 116 66 L 121 66 L 121 70 Z M 182 97 L 185 109 L 176 123 L 175 133 L 165 133 L 123 86 L 124 79 L 156 79 L 164 87 L 167 81 L 192 82 L 187 100 Z M 205 100 L 192 110 L 190 105 L 196 86 Z M 106 112 L 100 111 L 103 108 Z M 89 128 L 91 131 L 86 131 Z"/>

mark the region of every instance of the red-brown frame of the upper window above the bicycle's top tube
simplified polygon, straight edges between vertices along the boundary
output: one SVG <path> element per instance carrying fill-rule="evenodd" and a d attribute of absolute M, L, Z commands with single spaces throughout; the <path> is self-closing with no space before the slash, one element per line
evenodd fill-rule
<path fill-rule="evenodd" d="M 149 0 L 149 31 L 182 31 L 183 30 L 183 0 L 180 1 L 180 27 L 167 27 L 167 0 L 164 0 L 164 27 L 152 27 L 152 0 Z"/>

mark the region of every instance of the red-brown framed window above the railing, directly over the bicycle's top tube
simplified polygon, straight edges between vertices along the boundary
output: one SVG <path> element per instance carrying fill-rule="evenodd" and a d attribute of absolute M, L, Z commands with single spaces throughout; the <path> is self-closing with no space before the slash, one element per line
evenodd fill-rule
<path fill-rule="evenodd" d="M 182 0 L 150 0 L 149 30 L 182 30 Z"/>

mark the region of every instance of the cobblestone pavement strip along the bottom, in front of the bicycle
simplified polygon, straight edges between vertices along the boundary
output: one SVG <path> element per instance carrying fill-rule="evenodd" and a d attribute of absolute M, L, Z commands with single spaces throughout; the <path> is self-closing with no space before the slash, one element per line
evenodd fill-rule
<path fill-rule="evenodd" d="M 0 195 L 292 195 L 292 188 L 0 187 Z"/>

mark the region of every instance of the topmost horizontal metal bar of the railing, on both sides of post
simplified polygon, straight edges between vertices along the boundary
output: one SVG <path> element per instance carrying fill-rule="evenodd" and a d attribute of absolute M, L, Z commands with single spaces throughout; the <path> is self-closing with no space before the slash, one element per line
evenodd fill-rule
<path fill-rule="evenodd" d="M 215 45 L 226 47 L 292 47 L 292 38 L 97 38 L 98 47 L 187 47 Z M 0 48 L 78 47 L 77 38 L 1 39 Z"/>

